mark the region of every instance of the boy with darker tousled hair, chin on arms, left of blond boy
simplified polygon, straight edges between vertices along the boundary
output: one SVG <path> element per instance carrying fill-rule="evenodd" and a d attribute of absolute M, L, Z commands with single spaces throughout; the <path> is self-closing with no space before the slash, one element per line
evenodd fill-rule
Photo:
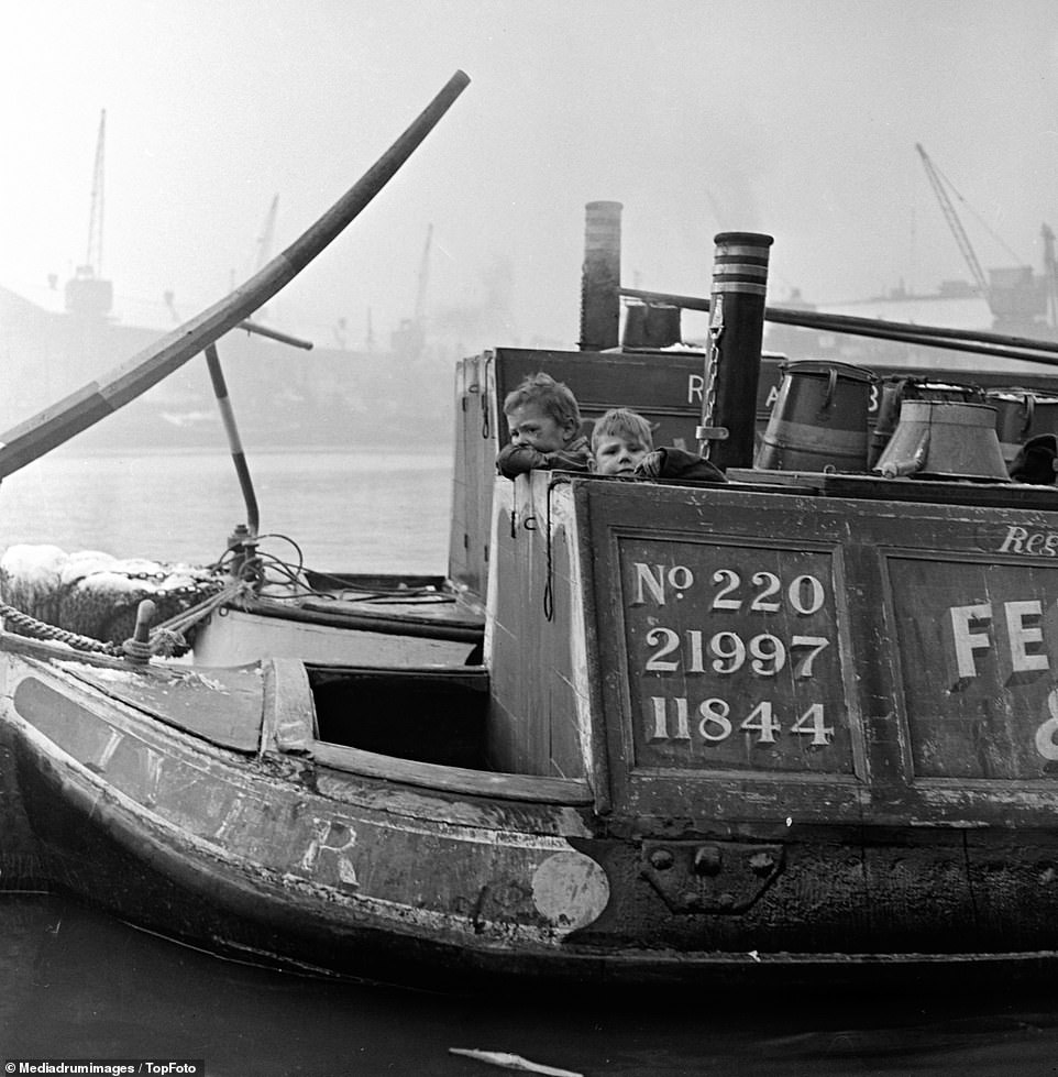
<path fill-rule="evenodd" d="M 592 451 L 581 433 L 581 409 L 569 386 L 531 374 L 504 399 L 510 444 L 496 457 L 505 479 L 527 471 L 588 471 Z"/>

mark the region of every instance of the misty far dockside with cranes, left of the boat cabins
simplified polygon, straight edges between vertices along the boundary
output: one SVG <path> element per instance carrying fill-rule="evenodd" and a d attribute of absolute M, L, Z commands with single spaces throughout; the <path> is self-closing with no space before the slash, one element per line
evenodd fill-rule
<path fill-rule="evenodd" d="M 0 286 L 0 429 L 26 419 L 106 374 L 165 334 L 179 319 L 172 294 L 153 311 L 153 328 L 128 323 L 114 312 L 114 289 L 102 273 L 103 146 L 99 136 L 85 261 L 62 292 L 57 278 L 33 301 Z M 257 240 L 257 267 L 271 256 L 277 198 Z M 346 347 L 340 321 L 332 340 L 295 351 L 275 340 L 232 331 L 218 343 L 229 396 L 247 449 L 294 446 L 448 444 L 453 394 L 438 394 L 437 380 L 477 337 L 497 334 L 506 316 L 509 274 L 493 274 L 478 309 L 448 310 L 428 332 L 426 284 L 432 226 L 419 267 L 414 314 L 377 345 L 368 329 L 363 347 Z M 498 284 L 497 284 L 498 282 Z M 130 308 L 134 301 L 119 306 Z M 262 321 L 267 319 L 261 315 Z M 370 319 L 370 315 L 368 315 Z M 164 322 L 169 321 L 166 328 Z M 284 327 L 289 333 L 296 328 Z M 191 361 L 134 405 L 78 436 L 82 449 L 224 448 L 224 431 L 202 362 Z"/>

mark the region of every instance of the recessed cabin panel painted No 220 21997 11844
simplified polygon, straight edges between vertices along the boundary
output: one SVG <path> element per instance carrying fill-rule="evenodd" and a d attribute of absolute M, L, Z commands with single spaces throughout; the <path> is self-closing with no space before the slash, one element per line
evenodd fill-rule
<path fill-rule="evenodd" d="M 637 763 L 849 772 L 830 558 L 625 539 Z"/>

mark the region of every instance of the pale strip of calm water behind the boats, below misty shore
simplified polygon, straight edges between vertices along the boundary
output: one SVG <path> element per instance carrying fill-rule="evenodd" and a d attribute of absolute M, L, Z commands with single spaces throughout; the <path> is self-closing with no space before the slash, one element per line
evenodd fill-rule
<path fill-rule="evenodd" d="M 294 539 L 309 568 L 443 572 L 452 468 L 448 450 L 255 452 L 262 534 Z M 56 452 L 0 486 L 0 547 L 208 563 L 246 510 L 231 460 L 217 452 Z M 282 539 L 265 548 L 285 559 Z"/>

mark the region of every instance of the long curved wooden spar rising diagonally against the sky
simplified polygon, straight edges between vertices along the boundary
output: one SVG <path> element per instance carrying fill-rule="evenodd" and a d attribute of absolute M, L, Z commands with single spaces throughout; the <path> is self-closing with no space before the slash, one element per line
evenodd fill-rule
<path fill-rule="evenodd" d="M 267 303 L 382 190 L 469 83 L 463 72 L 456 72 L 404 134 L 319 220 L 234 292 L 98 381 L 0 435 L 0 479 L 134 400 Z"/>

